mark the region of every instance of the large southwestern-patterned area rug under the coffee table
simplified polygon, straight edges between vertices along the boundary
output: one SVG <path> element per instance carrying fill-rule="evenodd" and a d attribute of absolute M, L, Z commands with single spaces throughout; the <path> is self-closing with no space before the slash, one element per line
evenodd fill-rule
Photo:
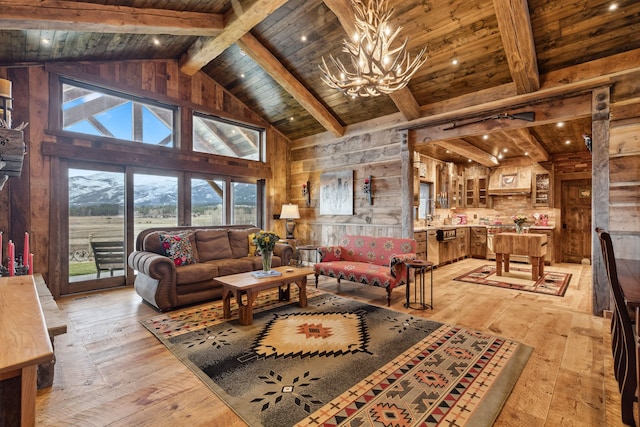
<path fill-rule="evenodd" d="M 491 425 L 532 350 L 315 289 L 304 309 L 275 295 L 251 326 L 220 302 L 142 324 L 251 426 Z"/>

